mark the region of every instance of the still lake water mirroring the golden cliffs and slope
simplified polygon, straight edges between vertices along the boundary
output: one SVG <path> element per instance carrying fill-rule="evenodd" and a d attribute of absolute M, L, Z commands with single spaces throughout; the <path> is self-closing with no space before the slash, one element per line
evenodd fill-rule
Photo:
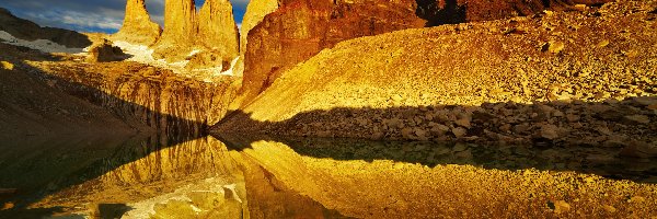
<path fill-rule="evenodd" d="M 606 193 L 630 196 L 657 182 L 657 162 L 604 148 L 149 136 L 26 139 L 0 150 L 0 218 L 503 215 L 500 203 L 542 208 L 564 195 L 551 186 L 568 196 L 600 189 L 562 188 L 560 174 L 624 182 L 627 191 Z"/>

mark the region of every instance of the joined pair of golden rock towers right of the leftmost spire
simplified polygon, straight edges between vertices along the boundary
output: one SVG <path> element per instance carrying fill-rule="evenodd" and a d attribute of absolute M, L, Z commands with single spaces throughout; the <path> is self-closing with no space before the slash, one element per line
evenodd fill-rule
<path fill-rule="evenodd" d="M 212 68 L 228 66 L 239 56 L 239 31 L 230 1 L 208 0 L 198 12 L 194 0 L 166 0 L 164 8 L 164 31 L 153 46 L 155 59 L 196 59 L 192 62 L 201 65 L 191 68 Z"/>

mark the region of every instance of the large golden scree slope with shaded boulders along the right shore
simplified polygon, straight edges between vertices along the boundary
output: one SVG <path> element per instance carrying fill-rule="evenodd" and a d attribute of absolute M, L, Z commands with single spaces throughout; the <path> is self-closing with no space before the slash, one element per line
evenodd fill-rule
<path fill-rule="evenodd" d="M 623 0 L 344 42 L 217 130 L 632 145 L 629 155 L 657 155 L 656 9 Z"/>

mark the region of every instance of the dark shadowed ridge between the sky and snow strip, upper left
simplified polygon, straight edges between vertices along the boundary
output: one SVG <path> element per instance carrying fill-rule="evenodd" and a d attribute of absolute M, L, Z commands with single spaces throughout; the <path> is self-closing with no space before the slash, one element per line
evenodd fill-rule
<path fill-rule="evenodd" d="M 34 22 L 14 16 L 9 10 L 2 8 L 0 8 L 0 31 L 24 41 L 48 39 L 71 48 L 84 48 L 91 45 L 91 41 L 78 32 L 41 27 Z"/>

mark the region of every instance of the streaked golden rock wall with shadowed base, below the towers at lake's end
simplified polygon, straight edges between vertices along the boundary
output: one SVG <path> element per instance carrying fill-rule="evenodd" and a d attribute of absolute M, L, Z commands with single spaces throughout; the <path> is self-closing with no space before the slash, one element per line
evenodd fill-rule
<path fill-rule="evenodd" d="M 228 77 L 207 83 L 132 62 L 51 62 L 41 68 L 56 78 L 54 85 L 174 137 L 204 134 L 226 115 L 237 90 Z"/>

